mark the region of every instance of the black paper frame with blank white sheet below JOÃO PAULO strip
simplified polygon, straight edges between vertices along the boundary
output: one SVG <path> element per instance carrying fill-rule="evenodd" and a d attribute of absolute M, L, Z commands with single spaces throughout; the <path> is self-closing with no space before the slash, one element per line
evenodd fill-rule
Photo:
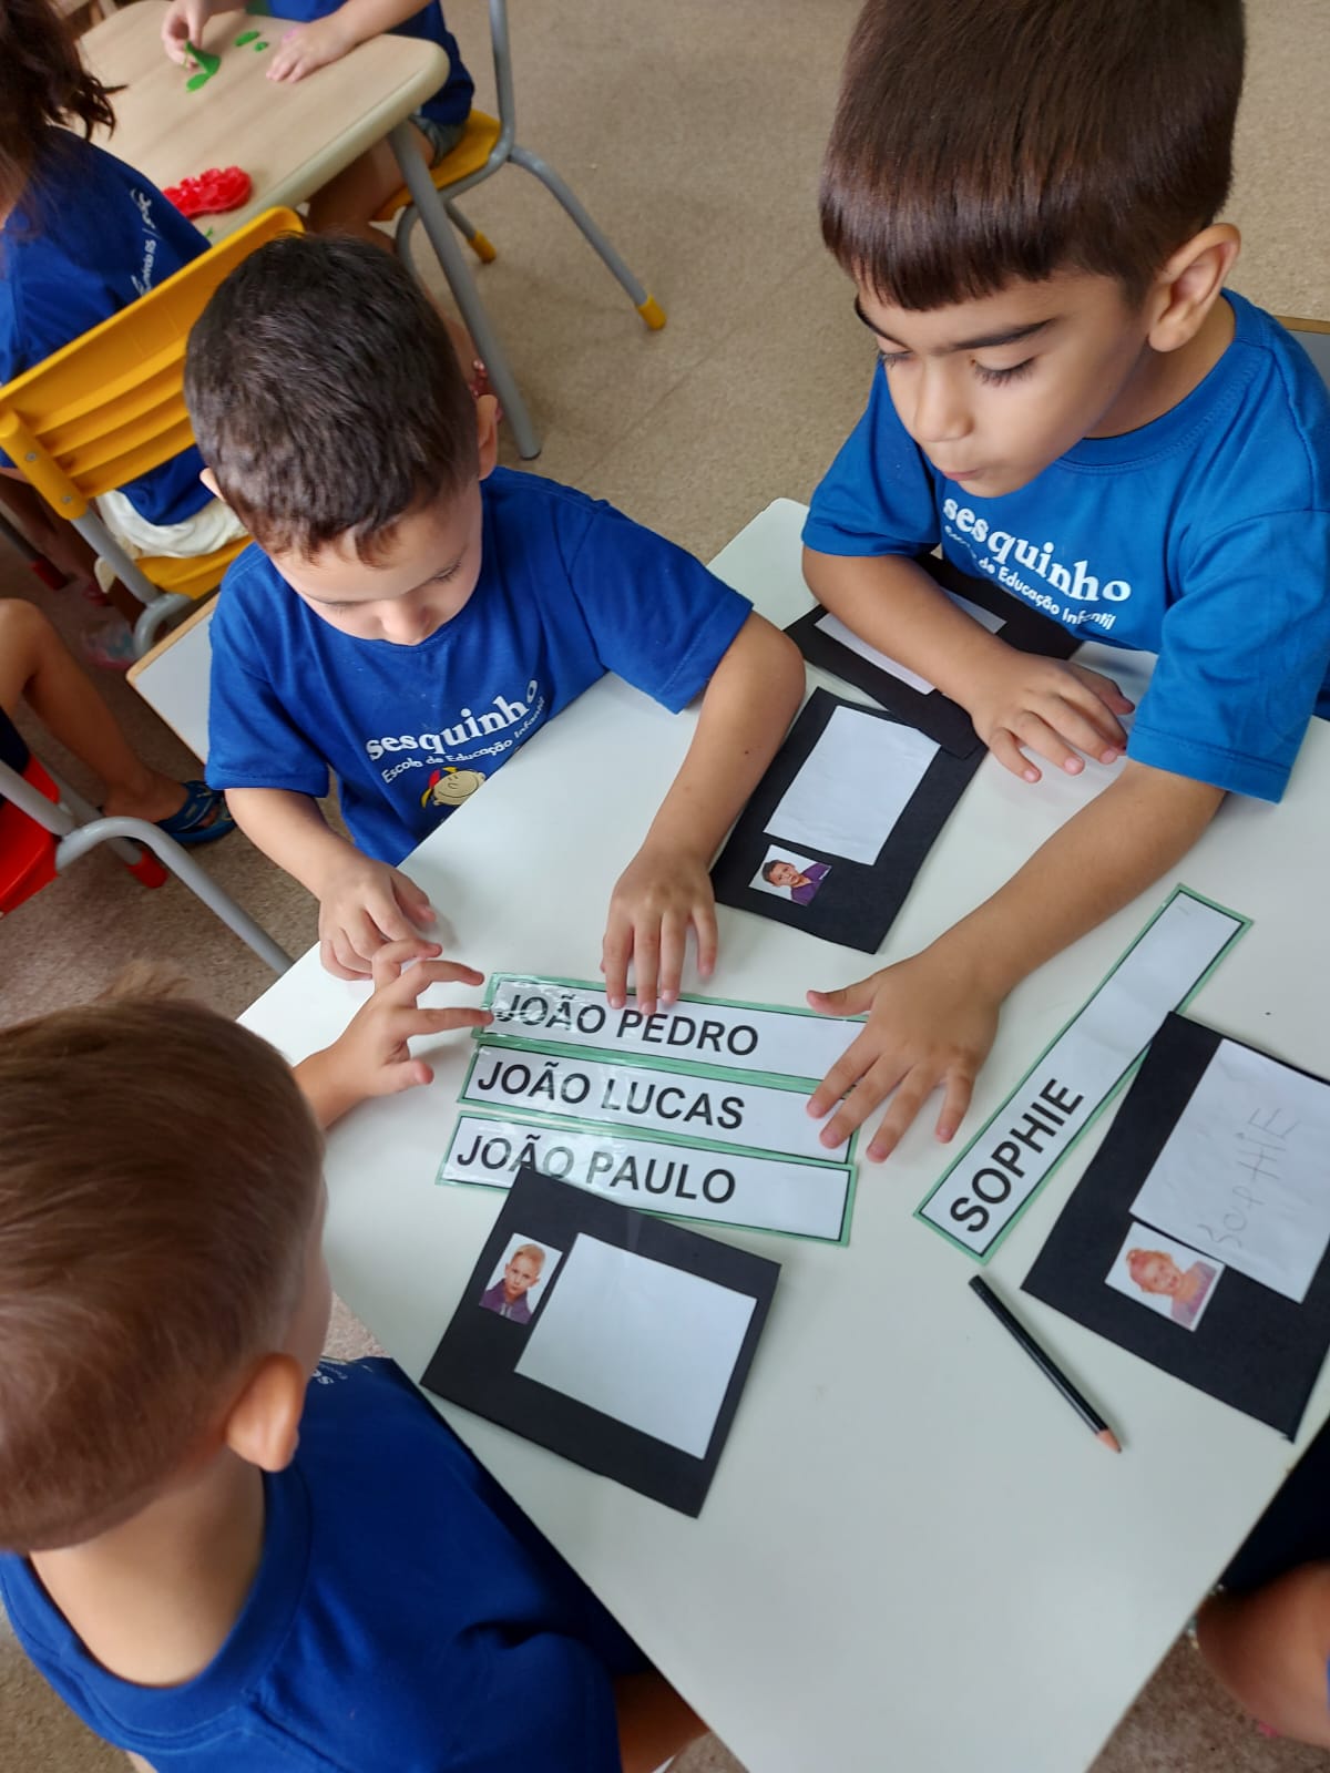
<path fill-rule="evenodd" d="M 477 1305 L 514 1232 L 537 1243 L 548 1241 L 564 1252 L 530 1324 L 514 1323 Z M 527 1335 L 541 1321 L 541 1312 L 559 1289 L 578 1232 L 649 1257 L 653 1262 L 667 1262 L 685 1273 L 700 1275 L 754 1300 L 748 1330 L 700 1459 L 516 1372 Z M 683 1225 L 651 1218 L 619 1200 L 605 1200 L 585 1188 L 555 1181 L 523 1165 L 472 1269 L 461 1305 L 452 1314 L 420 1383 L 440 1397 L 473 1410 L 475 1415 L 498 1422 L 589 1472 L 612 1477 L 617 1484 L 653 1496 L 681 1514 L 697 1516 L 716 1475 L 778 1275 L 778 1262 L 702 1238 Z"/>

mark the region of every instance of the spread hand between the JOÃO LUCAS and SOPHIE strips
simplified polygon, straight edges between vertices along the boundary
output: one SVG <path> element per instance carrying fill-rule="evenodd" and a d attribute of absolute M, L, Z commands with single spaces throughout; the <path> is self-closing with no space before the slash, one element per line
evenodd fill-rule
<path fill-rule="evenodd" d="M 869 1144 L 869 1158 L 888 1158 L 901 1135 L 938 1085 L 945 1087 L 936 1136 L 949 1140 L 970 1106 L 979 1067 L 988 1058 L 1002 998 L 926 949 L 896 966 L 846 986 L 844 991 L 809 991 L 809 1004 L 825 1016 L 869 1011 L 864 1032 L 832 1066 L 809 1099 L 821 1119 L 837 1103 L 821 1142 L 837 1147 L 892 1090 L 896 1099 Z M 849 1092 L 849 1094 L 846 1094 Z M 841 1101 L 841 1097 L 846 1097 Z"/>

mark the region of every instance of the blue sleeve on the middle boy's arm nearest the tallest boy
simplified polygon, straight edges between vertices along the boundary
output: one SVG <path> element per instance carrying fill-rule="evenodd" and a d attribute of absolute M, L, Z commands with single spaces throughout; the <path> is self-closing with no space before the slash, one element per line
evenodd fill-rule
<path fill-rule="evenodd" d="M 596 656 L 677 715 L 711 681 L 752 603 L 621 511 L 592 511 L 567 578 Z"/>

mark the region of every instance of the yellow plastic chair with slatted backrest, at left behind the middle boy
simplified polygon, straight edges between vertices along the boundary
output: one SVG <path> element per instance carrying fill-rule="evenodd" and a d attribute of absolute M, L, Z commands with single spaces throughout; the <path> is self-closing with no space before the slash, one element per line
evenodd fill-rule
<path fill-rule="evenodd" d="M 0 387 L 0 450 L 144 605 L 135 624 L 140 656 L 168 615 L 222 583 L 245 543 L 184 560 L 145 555 L 135 562 L 90 500 L 193 443 L 184 410 L 190 328 L 241 259 L 300 227 L 291 209 L 264 211 L 131 307 Z"/>

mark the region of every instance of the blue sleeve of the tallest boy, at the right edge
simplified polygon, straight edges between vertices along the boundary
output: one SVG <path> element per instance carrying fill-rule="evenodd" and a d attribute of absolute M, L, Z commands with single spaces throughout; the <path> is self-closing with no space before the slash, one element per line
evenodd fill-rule
<path fill-rule="evenodd" d="M 1330 663 L 1330 512 L 1206 534 L 1183 583 L 1128 755 L 1279 800 Z"/>

